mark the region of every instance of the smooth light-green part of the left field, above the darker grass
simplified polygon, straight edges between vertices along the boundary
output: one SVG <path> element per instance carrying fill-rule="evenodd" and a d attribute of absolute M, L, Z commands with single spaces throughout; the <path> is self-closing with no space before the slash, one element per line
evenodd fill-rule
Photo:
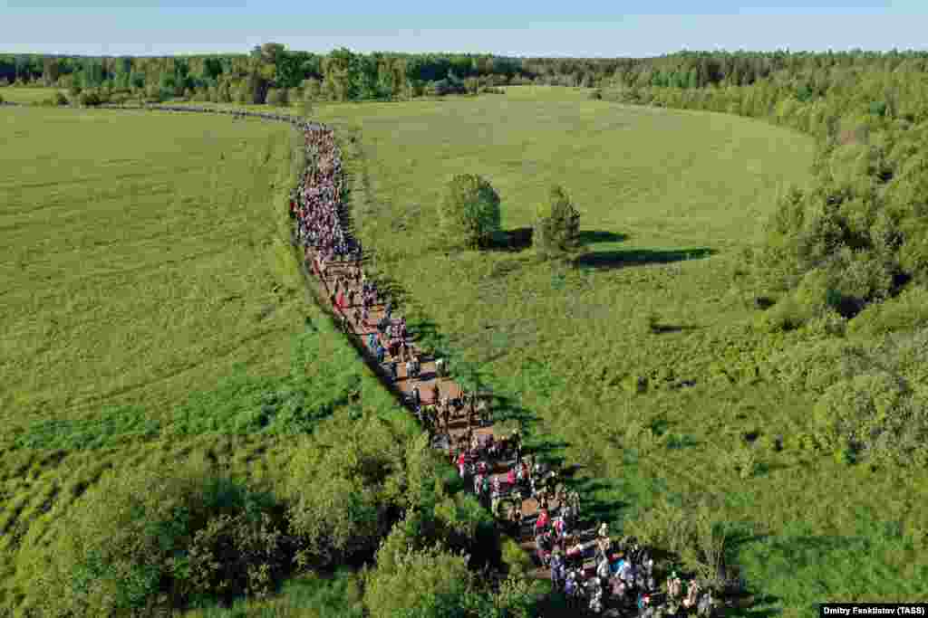
<path fill-rule="evenodd" d="M 157 419 L 235 363 L 289 366 L 280 350 L 311 305 L 272 197 L 286 128 L 109 110 L 0 120 L 2 435 L 110 405 Z"/>

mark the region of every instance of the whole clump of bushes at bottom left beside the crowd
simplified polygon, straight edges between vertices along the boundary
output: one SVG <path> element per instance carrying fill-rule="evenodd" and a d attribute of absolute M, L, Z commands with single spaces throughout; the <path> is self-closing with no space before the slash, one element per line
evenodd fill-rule
<path fill-rule="evenodd" d="M 24 541 L 19 583 L 32 612 L 115 615 L 260 598 L 294 566 L 375 556 L 371 615 L 400 615 L 391 608 L 404 603 L 423 612 L 431 605 L 417 595 L 426 589 L 441 607 L 473 610 L 459 615 L 522 615 L 478 609 L 534 599 L 513 583 L 504 602 L 470 578 L 501 568 L 493 519 L 475 498 L 452 493 L 454 471 L 406 415 L 333 417 L 281 461 L 260 490 L 205 460 L 104 476 L 45 540 Z M 397 594 L 401 582 L 417 595 Z"/>

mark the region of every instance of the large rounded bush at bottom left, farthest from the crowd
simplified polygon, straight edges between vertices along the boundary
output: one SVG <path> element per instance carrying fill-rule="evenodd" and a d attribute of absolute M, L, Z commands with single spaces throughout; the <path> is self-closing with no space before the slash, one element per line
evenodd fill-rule
<path fill-rule="evenodd" d="M 277 551 L 279 512 L 272 498 L 203 462 L 122 470 L 56 520 L 51 544 L 36 543 L 24 556 L 24 587 L 48 616 L 114 615 L 181 606 L 194 595 L 264 591 L 285 558 Z"/>

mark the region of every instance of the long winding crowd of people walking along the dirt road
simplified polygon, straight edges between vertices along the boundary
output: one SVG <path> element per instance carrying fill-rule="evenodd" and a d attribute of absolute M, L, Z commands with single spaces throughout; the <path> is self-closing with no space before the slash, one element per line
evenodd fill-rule
<path fill-rule="evenodd" d="M 518 431 L 504 439 L 475 431 L 489 422 L 487 409 L 475 394 L 459 387 L 454 397 L 442 396 L 438 378 L 447 373 L 444 359 L 435 362 L 431 389 L 425 386 L 422 356 L 410 341 L 406 319 L 393 315 L 392 300 L 367 278 L 360 266 L 361 244 L 348 233 L 341 153 L 334 134 L 317 125 L 305 125 L 303 131 L 309 166 L 290 199 L 295 239 L 310 270 L 329 290 L 345 332 L 356 333 L 358 328 L 385 377 L 412 384 L 406 388 L 407 403 L 433 437 L 440 438 L 438 444 L 447 450 L 466 486 L 473 487 L 511 536 L 535 539 L 537 566 L 548 569 L 554 588 L 576 610 L 598 614 L 607 607 L 631 612 L 637 608 L 647 618 L 711 613 L 712 591 L 702 590 L 695 580 L 684 590 L 673 572 L 664 586 L 656 586 L 651 553 L 634 538 L 613 540 L 605 523 L 595 531 L 581 530 L 579 494 L 565 489 L 557 470 L 524 456 Z M 376 322 L 371 317 L 375 306 L 384 309 Z M 465 423 L 458 425 L 462 431 L 455 439 L 452 426 L 461 417 Z M 590 561 L 592 568 L 587 568 Z"/>

